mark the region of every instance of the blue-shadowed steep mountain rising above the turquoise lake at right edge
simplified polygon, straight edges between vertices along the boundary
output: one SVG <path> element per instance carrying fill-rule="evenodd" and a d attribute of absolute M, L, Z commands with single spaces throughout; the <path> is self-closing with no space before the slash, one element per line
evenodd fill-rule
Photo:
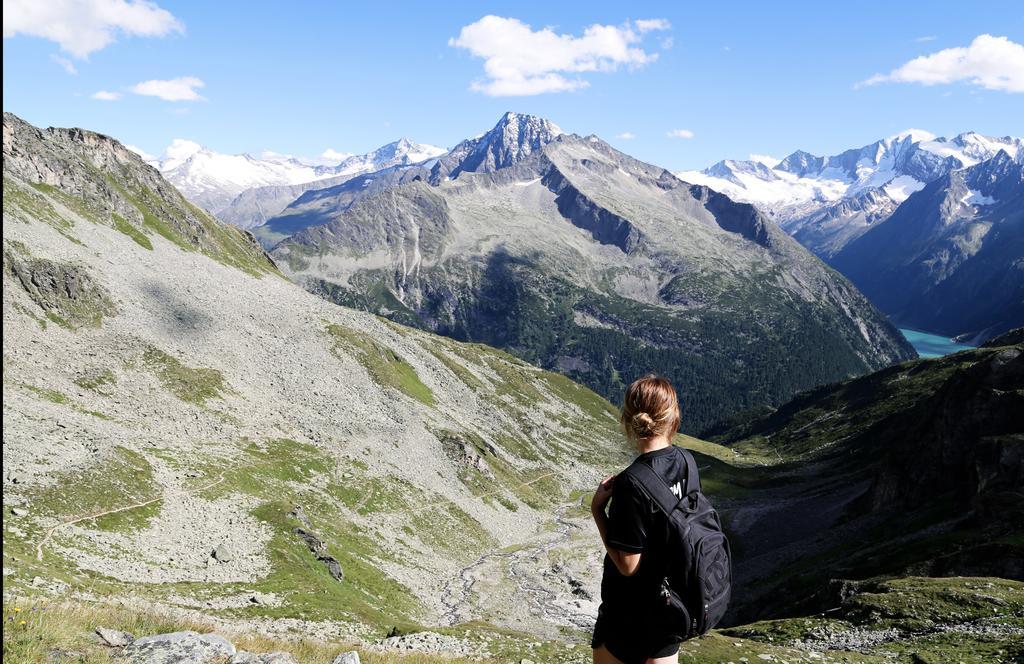
<path fill-rule="evenodd" d="M 831 262 L 905 327 L 977 343 L 1024 325 L 1024 162 L 933 180 Z"/>

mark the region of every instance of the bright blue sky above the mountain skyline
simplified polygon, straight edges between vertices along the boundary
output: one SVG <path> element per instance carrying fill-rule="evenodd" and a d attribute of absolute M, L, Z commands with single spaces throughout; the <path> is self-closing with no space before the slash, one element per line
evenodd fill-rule
<path fill-rule="evenodd" d="M 133 0 L 95 2 L 124 9 Z M 1006 51 L 981 53 L 978 67 L 1010 68 L 1009 83 L 949 75 L 950 82 L 924 85 L 915 82 L 922 76 L 946 75 L 899 70 L 918 56 L 971 46 L 980 35 L 1008 38 L 1009 46 L 992 42 L 1000 48 L 1021 44 L 1019 1 L 519 1 L 481 8 L 159 0 L 147 8 L 159 6 L 160 15 L 125 14 L 122 24 L 140 35 L 110 28 L 113 40 L 105 45 L 103 25 L 90 23 L 96 19 L 88 13 L 53 12 L 42 19 L 52 25 L 39 25 L 38 17 L 17 18 L 18 4 L 4 1 L 4 110 L 37 125 L 109 133 L 153 154 L 176 137 L 218 152 L 308 157 L 326 149 L 367 152 L 399 136 L 450 147 L 488 129 L 508 110 L 596 133 L 674 170 L 751 153 L 781 157 L 798 148 L 835 153 L 909 127 L 940 135 L 1024 134 L 1024 93 L 1016 87 L 1021 65 L 1000 54 Z M 525 29 L 512 23 L 483 30 L 477 22 L 485 14 L 517 19 L 535 32 L 550 27 L 568 36 L 555 40 L 559 48 L 583 54 L 559 69 L 562 59 L 544 52 L 543 39 L 514 42 Z M 655 18 L 664 22 L 637 23 Z M 61 22 L 99 32 L 92 41 L 79 33 L 61 42 L 52 38 Z M 462 33 L 474 24 L 476 33 Z M 614 29 L 612 37 L 628 32 L 634 50 L 616 54 L 613 44 L 605 51 L 598 44 L 595 53 L 571 40 L 594 25 Z M 494 46 L 496 39 L 513 42 Z M 514 71 L 499 52 L 492 65 L 504 73 L 488 78 L 488 48 L 511 52 Z M 515 68 L 523 64 L 516 57 L 524 52 L 534 78 L 519 84 Z M 894 71 L 897 80 L 857 85 Z M 144 81 L 182 77 L 203 82 L 194 88 L 203 99 L 169 101 L 131 91 Z M 487 93 L 530 87 L 575 89 Z M 92 98 L 98 91 L 119 98 Z M 667 135 L 680 129 L 692 137 Z"/>

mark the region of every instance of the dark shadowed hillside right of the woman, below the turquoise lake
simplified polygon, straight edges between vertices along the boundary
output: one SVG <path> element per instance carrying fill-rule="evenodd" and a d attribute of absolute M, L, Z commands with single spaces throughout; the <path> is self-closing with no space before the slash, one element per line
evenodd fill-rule
<path fill-rule="evenodd" d="M 799 396 L 715 437 L 732 620 L 830 609 L 842 580 L 1024 580 L 1024 346 L 920 360 Z M 714 493 L 712 495 L 715 495 Z"/>

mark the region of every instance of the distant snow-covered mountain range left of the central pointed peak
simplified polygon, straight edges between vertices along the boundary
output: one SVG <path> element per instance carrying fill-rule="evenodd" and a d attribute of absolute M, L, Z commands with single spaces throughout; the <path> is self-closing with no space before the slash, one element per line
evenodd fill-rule
<path fill-rule="evenodd" d="M 221 220 L 248 229 L 278 214 L 309 189 L 337 184 L 360 173 L 421 163 L 443 152 L 401 138 L 336 163 L 312 163 L 281 155 L 225 155 L 177 139 L 150 163 L 189 201 Z"/>

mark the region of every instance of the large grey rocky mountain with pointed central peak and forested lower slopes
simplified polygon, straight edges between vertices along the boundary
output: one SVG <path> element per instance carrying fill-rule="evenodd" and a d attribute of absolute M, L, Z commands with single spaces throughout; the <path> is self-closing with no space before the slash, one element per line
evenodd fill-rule
<path fill-rule="evenodd" d="M 272 250 L 286 274 L 612 401 L 656 369 L 685 386 L 687 430 L 913 357 L 753 206 L 540 118 L 371 186 L 308 192 L 267 223 L 294 233 Z"/>

